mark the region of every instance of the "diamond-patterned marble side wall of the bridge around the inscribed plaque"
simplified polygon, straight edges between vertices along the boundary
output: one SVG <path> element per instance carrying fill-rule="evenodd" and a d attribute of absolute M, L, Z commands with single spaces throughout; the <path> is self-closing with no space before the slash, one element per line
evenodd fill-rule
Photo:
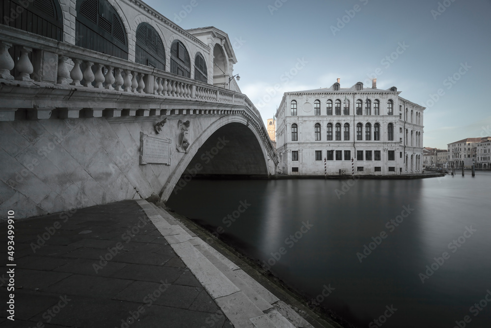
<path fill-rule="evenodd" d="M 153 126 L 161 119 L 0 121 L 0 212 L 15 209 L 16 218 L 27 218 L 160 195 L 164 185 L 172 189 L 169 178 L 194 156 L 176 151 L 179 118 L 167 117 L 158 135 L 172 140 L 171 165 L 139 165 L 140 131 L 156 136 Z M 216 120 L 191 119 L 190 148 L 206 142 L 199 137 Z"/>

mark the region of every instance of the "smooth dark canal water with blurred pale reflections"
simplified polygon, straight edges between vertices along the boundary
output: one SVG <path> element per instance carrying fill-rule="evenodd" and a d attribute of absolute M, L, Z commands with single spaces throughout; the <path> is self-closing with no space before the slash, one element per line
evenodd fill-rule
<path fill-rule="evenodd" d="M 466 171 L 191 180 L 167 206 L 355 327 L 489 328 L 490 196 L 491 172 Z"/>

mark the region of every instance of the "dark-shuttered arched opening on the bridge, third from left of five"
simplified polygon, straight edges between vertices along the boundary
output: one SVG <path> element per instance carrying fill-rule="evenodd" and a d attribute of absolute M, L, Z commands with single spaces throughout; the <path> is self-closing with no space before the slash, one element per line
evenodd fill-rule
<path fill-rule="evenodd" d="M 148 23 L 140 23 L 136 28 L 135 62 L 165 70 L 164 43 Z"/>

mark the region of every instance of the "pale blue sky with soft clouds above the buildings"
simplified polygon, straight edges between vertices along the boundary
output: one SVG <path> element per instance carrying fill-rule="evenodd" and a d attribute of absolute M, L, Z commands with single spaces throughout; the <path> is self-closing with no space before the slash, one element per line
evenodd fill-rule
<path fill-rule="evenodd" d="M 424 147 L 491 136 L 491 0 L 145 0 L 184 29 L 214 26 L 262 118 L 284 92 L 363 82 L 426 107 Z"/>

